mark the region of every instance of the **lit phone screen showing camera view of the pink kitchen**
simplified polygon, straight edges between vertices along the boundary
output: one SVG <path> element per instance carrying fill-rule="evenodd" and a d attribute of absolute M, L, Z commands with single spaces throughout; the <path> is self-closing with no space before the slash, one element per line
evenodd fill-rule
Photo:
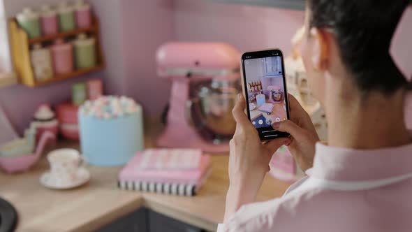
<path fill-rule="evenodd" d="M 250 119 L 260 133 L 272 132 L 274 122 L 288 119 L 281 62 L 279 56 L 244 60 Z"/>

